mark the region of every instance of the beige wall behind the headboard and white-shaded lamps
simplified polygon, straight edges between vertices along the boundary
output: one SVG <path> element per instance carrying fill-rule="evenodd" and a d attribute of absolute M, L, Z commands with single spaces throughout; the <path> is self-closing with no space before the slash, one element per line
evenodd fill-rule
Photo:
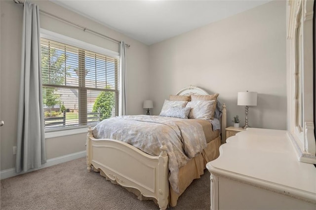
<path fill-rule="evenodd" d="M 188 85 L 219 93 L 228 125 L 244 106 L 237 92 L 258 92 L 249 126 L 286 129 L 285 0 L 276 0 L 150 46 L 151 99 L 159 114 L 164 99 Z"/>

